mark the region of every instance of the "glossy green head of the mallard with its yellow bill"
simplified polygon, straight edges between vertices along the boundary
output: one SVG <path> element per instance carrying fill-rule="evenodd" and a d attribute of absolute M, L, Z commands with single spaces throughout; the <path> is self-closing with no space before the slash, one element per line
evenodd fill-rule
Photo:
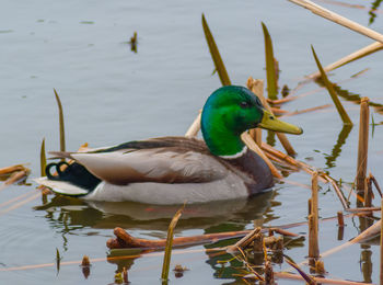
<path fill-rule="evenodd" d="M 303 133 L 302 128 L 276 118 L 252 91 L 243 87 L 222 87 L 206 101 L 201 130 L 213 155 L 237 155 L 244 148 L 241 134 L 255 127 L 295 135 Z"/>

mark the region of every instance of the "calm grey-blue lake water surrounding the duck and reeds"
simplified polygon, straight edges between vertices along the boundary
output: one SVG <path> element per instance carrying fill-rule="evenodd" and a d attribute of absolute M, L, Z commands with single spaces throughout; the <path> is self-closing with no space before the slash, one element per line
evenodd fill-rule
<path fill-rule="evenodd" d="M 369 1 L 348 1 L 365 5 L 356 9 L 322 2 L 326 8 L 363 25 L 369 22 Z M 76 150 L 88 141 L 91 147 L 114 145 L 131 139 L 183 135 L 207 96 L 220 87 L 201 27 L 201 13 L 220 48 L 233 83 L 245 84 L 249 76 L 264 79 L 264 38 L 266 23 L 281 69 L 280 84 L 297 87 L 305 75 L 316 71 L 311 45 L 323 65 L 330 64 L 372 43 L 365 36 L 313 15 L 288 1 L 11 1 L 0 9 L 0 168 L 30 163 L 31 185 L 12 185 L 0 192 L 0 203 L 33 191 L 39 175 L 39 147 L 59 148 L 58 112 L 53 89 L 63 105 L 67 149 Z M 371 25 L 383 33 L 382 16 Z M 138 33 L 137 53 L 128 42 Z M 373 102 L 383 102 L 383 54 L 376 53 L 333 71 L 330 79 L 343 89 Z M 352 75 L 368 69 L 357 78 Z M 317 90 L 311 82 L 297 94 Z M 287 121 L 302 126 L 304 134 L 289 136 L 298 159 L 329 172 L 343 182 L 356 174 L 359 106 L 343 101 L 355 123 L 345 144 L 339 142 L 341 121 L 325 90 L 303 96 L 283 109 L 303 110 L 332 104 L 324 111 L 295 115 Z M 374 122 L 381 114 L 371 109 Z M 370 130 L 369 170 L 383 184 L 382 127 Z M 340 138 L 341 142 L 341 138 Z M 340 149 L 339 149 L 340 146 Z M 277 144 L 277 147 L 280 146 Z M 281 149 L 281 148 L 280 148 Z M 340 152 L 338 152 L 340 150 Z M 304 172 L 288 180 L 310 184 Z M 335 216 L 341 205 L 333 191 L 323 185 L 320 215 Z M 304 221 L 305 187 L 278 184 L 274 193 L 249 201 L 212 203 L 186 208 L 176 236 L 252 229 L 253 223 L 277 226 Z M 375 196 L 374 204 L 380 200 Z M 78 200 L 40 198 L 8 213 L 0 212 L 0 270 L 54 263 L 56 249 L 61 255 L 56 266 L 2 271 L 1 284 L 111 284 L 116 270 L 129 267 L 132 284 L 160 284 L 162 252 L 135 260 L 93 262 L 85 278 L 78 263 L 84 254 L 105 259 L 105 242 L 114 227 L 132 236 L 155 239 L 166 236 L 170 217 L 176 207 L 148 209 L 148 205 L 85 204 Z M 352 206 L 355 202 L 352 200 Z M 152 209 L 152 208 L 151 208 Z M 0 209 L 1 210 L 1 209 Z M 346 219 L 344 240 L 337 239 L 336 221 L 320 225 L 321 251 L 344 243 L 358 235 L 359 219 Z M 306 232 L 305 226 L 292 229 Z M 307 254 L 307 242 L 285 250 L 300 262 Z M 241 284 L 222 267 L 205 247 L 174 250 L 172 267 L 187 266 L 181 278 L 171 274 L 172 284 Z M 324 259 L 328 277 L 379 282 L 379 247 L 352 246 Z M 287 270 L 286 263 L 275 270 Z M 307 267 L 304 267 L 307 271 Z M 299 282 L 279 281 L 279 284 Z"/>

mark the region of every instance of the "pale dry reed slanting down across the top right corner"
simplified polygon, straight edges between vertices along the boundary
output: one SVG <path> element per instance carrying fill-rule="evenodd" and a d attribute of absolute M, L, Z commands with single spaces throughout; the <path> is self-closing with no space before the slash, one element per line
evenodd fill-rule
<path fill-rule="evenodd" d="M 358 24 L 345 16 L 341 16 L 337 13 L 334 13 L 327 9 L 324 9 L 323 7 L 318 5 L 318 4 L 315 4 L 313 3 L 312 1 L 309 1 L 309 0 L 289 0 L 290 2 L 293 2 L 295 4 L 299 4 L 305 9 L 309 9 L 311 12 L 313 12 L 314 14 L 317 14 L 322 18 L 325 18 L 329 21 L 333 21 L 339 25 L 343 25 L 343 26 L 346 26 L 355 32 L 358 32 L 362 35 L 365 35 L 372 39 L 375 39 L 380 43 L 383 43 L 383 35 L 371 30 L 371 29 L 368 29 L 361 24 Z"/>

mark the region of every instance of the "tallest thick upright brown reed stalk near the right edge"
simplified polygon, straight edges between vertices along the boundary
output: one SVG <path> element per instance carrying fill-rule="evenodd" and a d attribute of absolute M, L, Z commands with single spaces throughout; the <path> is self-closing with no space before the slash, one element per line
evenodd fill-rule
<path fill-rule="evenodd" d="M 357 192 L 364 192 L 364 179 L 367 173 L 367 159 L 369 151 L 369 99 L 362 98 L 360 102 L 359 119 L 359 144 L 358 144 L 358 163 L 357 163 Z"/>

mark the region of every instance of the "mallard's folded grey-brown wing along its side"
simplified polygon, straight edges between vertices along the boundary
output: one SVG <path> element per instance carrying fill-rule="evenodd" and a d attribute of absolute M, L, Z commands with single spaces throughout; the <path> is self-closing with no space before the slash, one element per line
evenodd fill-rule
<path fill-rule="evenodd" d="M 228 175 L 214 157 L 195 151 L 154 148 L 128 152 L 71 153 L 92 174 L 112 184 L 132 182 L 201 183 Z"/>

